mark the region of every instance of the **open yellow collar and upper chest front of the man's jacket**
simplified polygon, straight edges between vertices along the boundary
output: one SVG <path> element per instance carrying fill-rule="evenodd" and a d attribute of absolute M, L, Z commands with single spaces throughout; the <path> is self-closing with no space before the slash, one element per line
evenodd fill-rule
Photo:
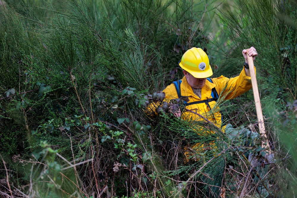
<path fill-rule="evenodd" d="M 214 83 L 206 80 L 205 85 L 201 88 L 201 99 L 194 94 L 192 87 L 189 85 L 186 76 L 183 77 L 181 82 L 181 96 L 193 96 L 198 100 L 205 100 L 211 98 L 211 89 L 215 87 Z"/>

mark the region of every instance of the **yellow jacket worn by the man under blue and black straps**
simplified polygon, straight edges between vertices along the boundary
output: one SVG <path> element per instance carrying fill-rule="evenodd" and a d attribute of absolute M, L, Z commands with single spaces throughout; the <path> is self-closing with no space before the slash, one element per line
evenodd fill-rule
<path fill-rule="evenodd" d="M 224 76 L 220 76 L 218 78 L 212 78 L 212 82 L 213 83 L 206 80 L 205 85 L 203 86 L 203 88 L 201 88 L 201 99 L 200 99 L 198 96 L 194 94 L 191 86 L 188 84 L 187 79 L 184 76 L 181 82 L 181 96 L 188 96 L 189 98 L 188 103 L 206 100 L 206 99 L 212 98 L 211 89 L 215 88 L 219 95 L 219 100 L 221 99 L 227 100 L 227 99 L 233 99 L 236 96 L 239 96 L 252 88 L 251 77 L 245 74 L 244 69 L 241 71 L 239 76 L 236 76 L 230 79 Z M 169 102 L 171 99 L 178 98 L 178 94 L 176 92 L 176 88 L 173 83 L 168 85 L 163 90 L 163 92 L 166 94 L 165 101 L 167 102 Z M 218 105 L 215 105 L 215 104 L 216 104 L 215 101 L 209 102 L 209 105 L 212 109 L 211 113 L 209 112 L 210 109 L 206 105 L 206 103 L 192 104 L 192 105 L 186 106 L 186 110 L 184 110 L 184 112 L 182 113 L 181 118 L 184 120 L 191 119 L 195 121 L 204 120 L 204 118 L 200 117 L 199 115 L 188 111 L 188 110 L 191 110 L 207 118 L 216 126 L 221 127 L 222 116 L 219 112 Z M 154 104 L 154 106 L 156 107 L 157 104 Z M 157 113 L 155 114 L 157 115 Z"/>

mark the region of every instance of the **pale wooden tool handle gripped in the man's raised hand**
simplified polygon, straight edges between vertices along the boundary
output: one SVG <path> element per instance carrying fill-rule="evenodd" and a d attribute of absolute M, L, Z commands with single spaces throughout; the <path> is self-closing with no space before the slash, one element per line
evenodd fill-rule
<path fill-rule="evenodd" d="M 255 99 L 255 105 L 256 105 L 256 112 L 257 112 L 257 118 L 258 118 L 258 123 L 259 123 L 260 135 L 261 135 L 261 137 L 264 137 L 264 139 L 265 139 L 265 142 L 262 142 L 262 147 L 263 147 L 263 145 L 265 145 L 265 143 L 266 143 L 265 147 L 269 147 L 267 136 L 266 136 L 266 133 L 265 133 L 265 126 L 264 126 L 262 108 L 261 108 L 261 103 L 260 103 L 260 96 L 259 96 L 259 91 L 258 91 L 255 68 L 254 68 L 254 61 L 253 61 L 253 57 L 249 56 L 249 49 L 247 50 L 247 61 L 248 61 L 248 64 L 249 64 L 249 72 L 251 74 L 251 79 L 252 79 L 252 87 L 253 87 L 253 93 L 254 93 L 254 99 Z"/>

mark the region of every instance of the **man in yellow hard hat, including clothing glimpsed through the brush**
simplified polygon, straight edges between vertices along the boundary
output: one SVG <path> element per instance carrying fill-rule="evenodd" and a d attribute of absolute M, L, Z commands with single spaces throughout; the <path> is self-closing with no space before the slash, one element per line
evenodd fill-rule
<path fill-rule="evenodd" d="M 182 80 L 168 85 L 163 92 L 165 93 L 164 101 L 167 103 L 172 103 L 172 100 L 178 98 L 188 98 L 188 100 L 184 102 L 183 107 L 180 107 L 184 109 L 182 113 L 180 108 L 172 108 L 174 106 L 173 104 L 169 104 L 169 111 L 177 118 L 181 117 L 184 120 L 207 121 L 218 128 L 222 128 L 222 115 L 219 112 L 218 105 L 216 105 L 218 98 L 219 100 L 233 99 L 252 88 L 246 53 L 247 50 L 242 50 L 245 63 L 238 76 L 233 78 L 224 76 L 208 78 L 213 72 L 209 65 L 207 54 L 202 49 L 196 47 L 187 50 L 179 62 L 179 66 L 183 69 L 184 77 Z M 257 51 L 254 47 L 250 47 L 248 56 L 252 56 L 253 59 L 255 59 Z M 162 103 L 153 102 L 149 105 L 149 109 L 153 111 L 152 113 L 157 114 L 155 110 L 159 105 L 162 106 Z M 195 128 L 195 126 L 193 126 L 193 128 Z M 204 129 L 200 131 L 200 129 L 196 127 L 194 130 L 198 134 L 200 134 L 200 132 L 203 134 L 202 131 Z M 228 130 L 230 129 L 228 128 Z M 213 141 L 209 142 L 208 145 L 196 143 L 195 145 L 190 145 L 190 147 L 185 147 L 185 162 L 188 162 L 189 158 L 196 161 L 196 159 L 199 159 L 200 153 L 205 152 L 205 150 L 211 150 L 211 148 L 215 148 Z M 223 172 L 225 161 L 218 162 L 222 162 L 220 168 Z M 211 175 L 211 177 L 213 176 L 215 175 Z M 207 186 L 208 190 L 206 190 L 204 194 L 205 197 L 219 196 L 218 194 L 221 191 L 219 186 L 222 184 L 222 180 L 219 178 L 218 176 L 214 181 L 210 182 L 207 177 L 200 178 L 203 183 L 211 183 L 211 186 Z"/>

